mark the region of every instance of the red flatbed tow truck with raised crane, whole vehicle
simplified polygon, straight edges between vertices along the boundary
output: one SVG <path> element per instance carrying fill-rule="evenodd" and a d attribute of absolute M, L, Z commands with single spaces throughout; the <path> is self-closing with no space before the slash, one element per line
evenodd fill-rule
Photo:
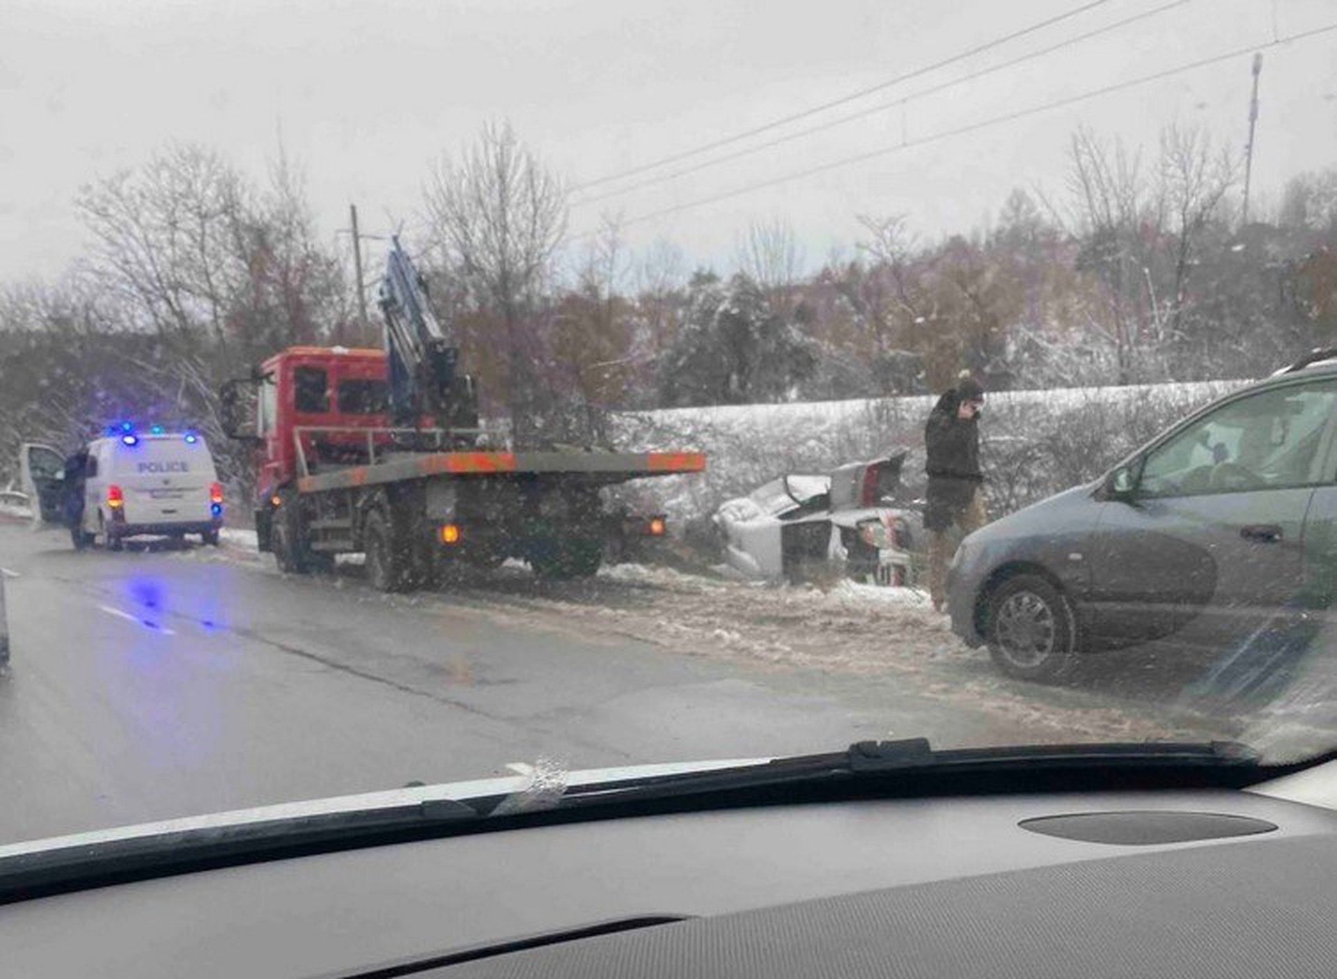
<path fill-rule="evenodd" d="M 254 445 L 255 528 L 287 572 L 362 552 L 402 591 L 509 556 L 545 578 L 595 574 L 662 514 L 610 511 L 606 487 L 701 472 L 699 452 L 511 451 L 479 424 L 472 377 L 396 241 L 381 286 L 385 350 L 294 346 L 221 395 L 223 428 Z"/>

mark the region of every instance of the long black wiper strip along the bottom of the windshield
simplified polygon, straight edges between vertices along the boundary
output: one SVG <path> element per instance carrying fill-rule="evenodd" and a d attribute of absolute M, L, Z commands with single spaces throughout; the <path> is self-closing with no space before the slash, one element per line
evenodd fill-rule
<path fill-rule="evenodd" d="M 293 816 L 179 825 L 150 832 L 152 827 L 108 832 L 103 839 L 4 855 L 0 848 L 0 904 L 52 893 L 79 891 L 130 880 L 234 867 L 293 856 L 404 843 L 460 832 L 485 831 L 552 819 L 598 819 L 615 814 L 646 814 L 656 808 L 689 809 L 714 805 L 802 802 L 848 794 L 929 794 L 923 778 L 945 777 L 953 792 L 969 790 L 972 777 L 1003 776 L 1003 782 L 976 782 L 984 790 L 1017 790 L 1036 786 L 1046 773 L 1055 785 L 1072 788 L 1083 773 L 1110 780 L 1114 773 L 1163 770 L 1166 784 L 1183 785 L 1194 772 L 1226 772 L 1229 778 L 1207 784 L 1247 785 L 1257 781 L 1258 756 L 1235 742 L 1206 744 L 1095 744 L 1032 745 L 1021 748 L 971 748 L 933 750 L 924 738 L 862 741 L 844 752 L 793 756 L 755 765 L 737 765 L 583 782 L 560 794 L 540 798 L 528 810 L 505 804 L 516 796 L 465 798 L 427 797 L 412 802 L 361 809 L 298 812 Z M 1187 774 L 1186 774 L 1187 773 Z M 1144 784 L 1144 780 L 1143 782 Z M 1124 788 L 1127 785 L 1123 785 Z M 1091 788 L 1091 786 L 1083 786 Z M 1108 785 L 1103 785 L 1108 788 Z M 532 820 L 532 821 L 531 821 Z M 191 824 L 193 820 L 187 820 Z M 21 849 L 21 845 L 20 845 Z"/>

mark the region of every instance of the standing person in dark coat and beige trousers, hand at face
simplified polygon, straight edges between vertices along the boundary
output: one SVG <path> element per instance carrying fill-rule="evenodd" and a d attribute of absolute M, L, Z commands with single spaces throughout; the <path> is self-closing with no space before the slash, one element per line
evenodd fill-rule
<path fill-rule="evenodd" d="M 984 385 L 963 370 L 956 387 L 937 400 L 924 427 L 928 449 L 928 587 L 933 609 L 947 603 L 947 566 L 956 544 L 987 522 L 980 472 L 980 412 Z"/>

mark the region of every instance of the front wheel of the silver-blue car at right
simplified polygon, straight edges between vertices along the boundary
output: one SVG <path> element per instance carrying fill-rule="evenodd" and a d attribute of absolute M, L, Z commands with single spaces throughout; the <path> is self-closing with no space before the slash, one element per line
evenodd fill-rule
<path fill-rule="evenodd" d="M 1072 605 L 1040 575 L 1015 575 L 993 588 L 984 635 L 993 663 L 1017 679 L 1059 679 L 1076 658 Z"/>

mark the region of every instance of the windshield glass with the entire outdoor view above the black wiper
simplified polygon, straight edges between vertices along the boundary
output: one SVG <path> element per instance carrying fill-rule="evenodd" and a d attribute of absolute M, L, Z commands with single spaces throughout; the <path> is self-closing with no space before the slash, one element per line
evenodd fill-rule
<path fill-rule="evenodd" d="M 9 0 L 0 844 L 1337 749 L 1334 108 L 1337 0 Z"/>

